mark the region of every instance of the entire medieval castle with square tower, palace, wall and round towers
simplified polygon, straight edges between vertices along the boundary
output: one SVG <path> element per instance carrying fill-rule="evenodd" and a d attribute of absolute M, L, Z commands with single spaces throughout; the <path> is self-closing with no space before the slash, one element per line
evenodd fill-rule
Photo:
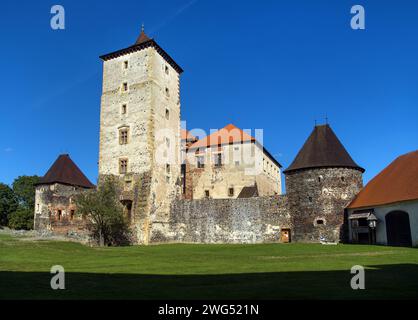
<path fill-rule="evenodd" d="M 181 128 L 181 67 L 142 30 L 100 57 L 99 184 L 119 183 L 139 244 L 316 242 L 347 238 L 346 207 L 362 173 L 328 124 L 315 126 L 284 170 L 232 124 L 197 137 Z M 257 136 L 257 135 L 256 135 Z M 83 232 L 73 197 L 94 188 L 68 155 L 36 187 L 35 229 Z"/>

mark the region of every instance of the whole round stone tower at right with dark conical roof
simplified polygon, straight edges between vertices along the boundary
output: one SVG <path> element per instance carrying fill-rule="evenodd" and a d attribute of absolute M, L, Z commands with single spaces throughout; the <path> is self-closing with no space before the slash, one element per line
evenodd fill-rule
<path fill-rule="evenodd" d="M 296 241 L 343 240 L 345 207 L 363 186 L 359 167 L 331 127 L 315 126 L 286 175 Z"/>

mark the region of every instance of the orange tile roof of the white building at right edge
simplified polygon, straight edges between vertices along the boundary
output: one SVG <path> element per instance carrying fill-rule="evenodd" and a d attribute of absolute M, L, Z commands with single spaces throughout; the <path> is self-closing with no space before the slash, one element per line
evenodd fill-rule
<path fill-rule="evenodd" d="M 395 159 L 374 177 L 348 208 L 374 207 L 418 199 L 418 150 Z"/>

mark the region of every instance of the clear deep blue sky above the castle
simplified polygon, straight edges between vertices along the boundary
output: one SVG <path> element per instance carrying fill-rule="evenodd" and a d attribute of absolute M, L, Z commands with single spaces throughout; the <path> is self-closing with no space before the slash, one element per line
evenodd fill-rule
<path fill-rule="evenodd" d="M 50 28 L 61 4 L 66 29 Z M 350 28 L 350 8 L 366 30 Z M 11 1 L 0 9 L 0 182 L 69 153 L 96 182 L 102 63 L 145 31 L 185 70 L 188 128 L 264 129 L 284 167 L 329 122 L 367 182 L 418 149 L 418 1 Z"/>

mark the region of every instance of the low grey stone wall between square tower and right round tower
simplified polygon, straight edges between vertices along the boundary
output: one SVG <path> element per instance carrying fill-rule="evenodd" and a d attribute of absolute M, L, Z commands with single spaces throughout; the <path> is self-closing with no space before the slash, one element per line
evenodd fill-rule
<path fill-rule="evenodd" d="M 176 200 L 168 232 L 153 232 L 151 242 L 279 242 L 290 221 L 286 196 Z"/>

